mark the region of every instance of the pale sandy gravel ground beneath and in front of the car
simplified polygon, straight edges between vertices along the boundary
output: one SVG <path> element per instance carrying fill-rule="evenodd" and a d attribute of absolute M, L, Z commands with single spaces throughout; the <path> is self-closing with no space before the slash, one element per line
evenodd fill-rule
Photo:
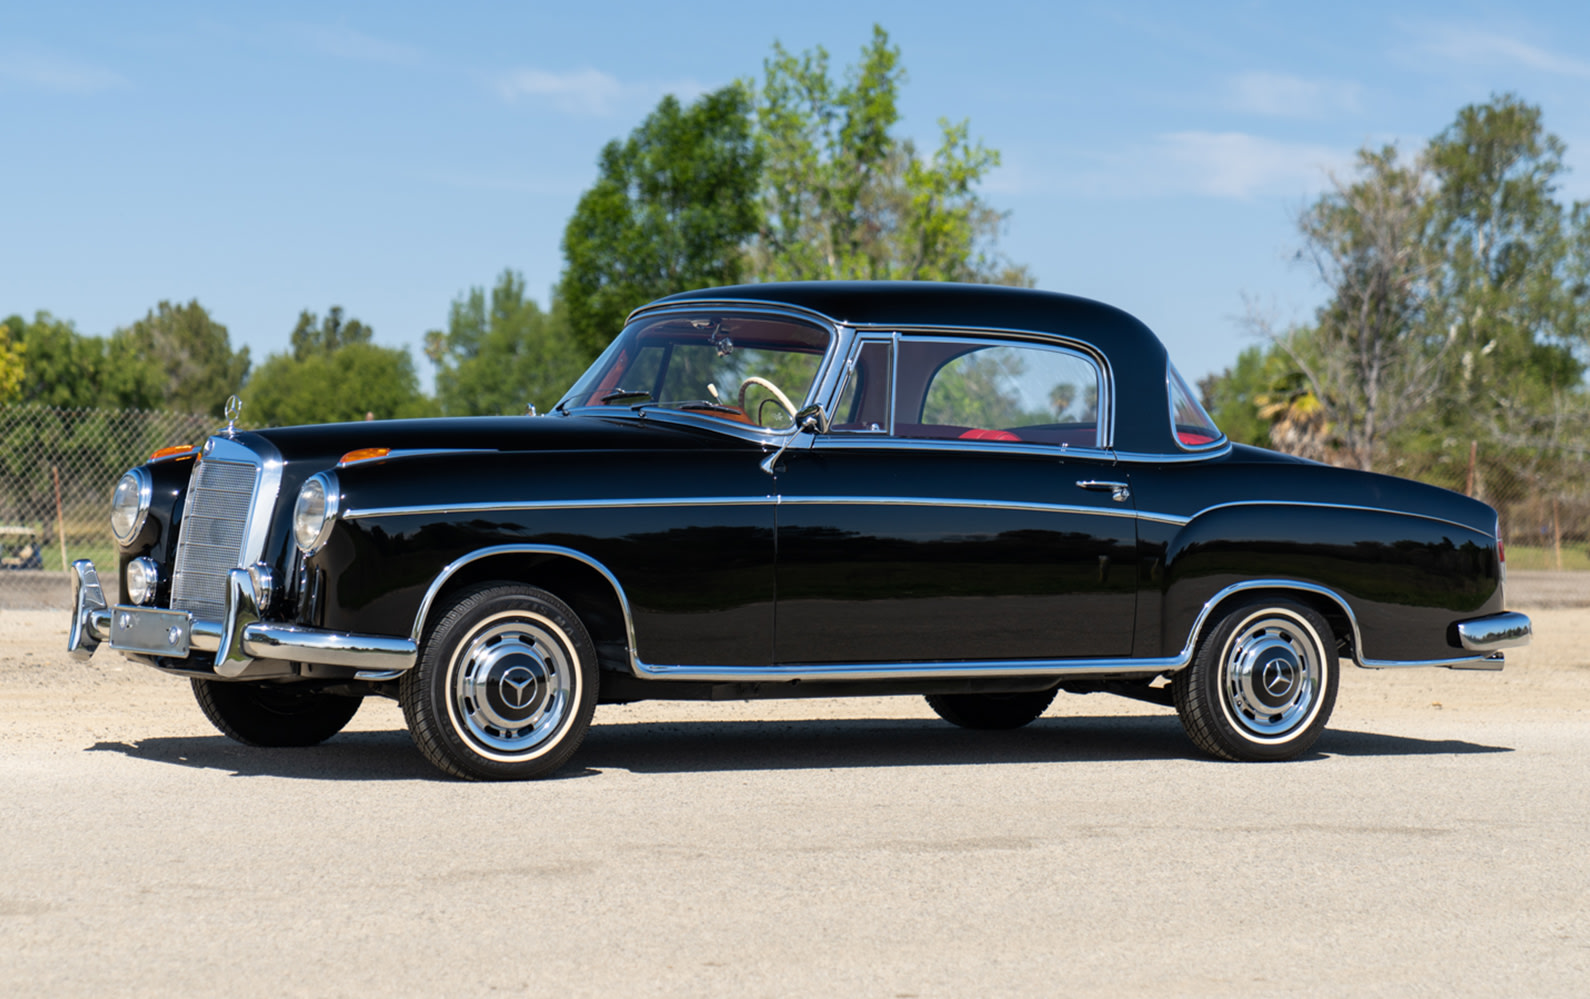
<path fill-rule="evenodd" d="M 1561 603 L 1561 601 L 1541 601 Z M 1062 695 L 604 706 L 561 779 L 439 779 L 370 702 L 248 749 L 0 611 L 14 996 L 1584 996 L 1590 612 L 1503 673 L 1344 668 L 1304 760 Z"/>

